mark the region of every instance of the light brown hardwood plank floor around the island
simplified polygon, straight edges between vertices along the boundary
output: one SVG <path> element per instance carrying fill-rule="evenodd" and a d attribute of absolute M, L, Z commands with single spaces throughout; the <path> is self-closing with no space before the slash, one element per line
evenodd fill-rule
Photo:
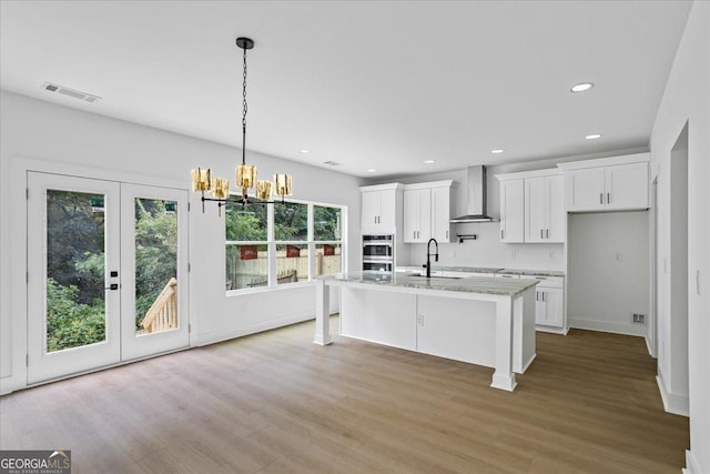
<path fill-rule="evenodd" d="M 337 327 L 337 320 L 332 321 Z M 72 450 L 74 473 L 679 473 L 643 341 L 538 333 L 514 393 L 491 369 L 313 322 L 0 399 L 0 447 Z"/>

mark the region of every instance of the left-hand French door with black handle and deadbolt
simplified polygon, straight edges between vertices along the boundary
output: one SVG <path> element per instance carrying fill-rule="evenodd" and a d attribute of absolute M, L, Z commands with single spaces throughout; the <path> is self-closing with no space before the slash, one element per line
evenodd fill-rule
<path fill-rule="evenodd" d="M 28 173 L 28 383 L 120 361 L 120 205 L 119 183 Z"/>

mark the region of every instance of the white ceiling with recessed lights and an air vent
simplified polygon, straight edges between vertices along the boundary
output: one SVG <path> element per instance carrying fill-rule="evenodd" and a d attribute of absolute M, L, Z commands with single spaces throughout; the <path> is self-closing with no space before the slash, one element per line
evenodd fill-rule
<path fill-rule="evenodd" d="M 241 147 L 234 40 L 246 36 L 256 43 L 248 150 L 333 160 L 359 177 L 418 174 L 647 147 L 689 10 L 688 1 L 2 1 L 0 80 Z M 45 81 L 102 99 L 51 93 Z M 582 81 L 596 87 L 569 92 Z"/>

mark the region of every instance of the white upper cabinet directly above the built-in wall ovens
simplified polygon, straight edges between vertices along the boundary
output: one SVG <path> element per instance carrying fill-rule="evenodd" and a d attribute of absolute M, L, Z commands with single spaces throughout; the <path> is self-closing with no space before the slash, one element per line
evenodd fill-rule
<path fill-rule="evenodd" d="M 402 189 L 399 183 L 361 188 L 363 233 L 395 233 Z"/>

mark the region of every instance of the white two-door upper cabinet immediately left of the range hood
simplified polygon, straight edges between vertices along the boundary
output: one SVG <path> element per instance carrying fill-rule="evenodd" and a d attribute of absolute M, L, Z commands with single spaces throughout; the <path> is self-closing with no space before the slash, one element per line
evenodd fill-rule
<path fill-rule="evenodd" d="M 434 238 L 450 242 L 453 181 L 406 184 L 404 188 L 404 233 L 407 243 L 426 243 Z"/>

